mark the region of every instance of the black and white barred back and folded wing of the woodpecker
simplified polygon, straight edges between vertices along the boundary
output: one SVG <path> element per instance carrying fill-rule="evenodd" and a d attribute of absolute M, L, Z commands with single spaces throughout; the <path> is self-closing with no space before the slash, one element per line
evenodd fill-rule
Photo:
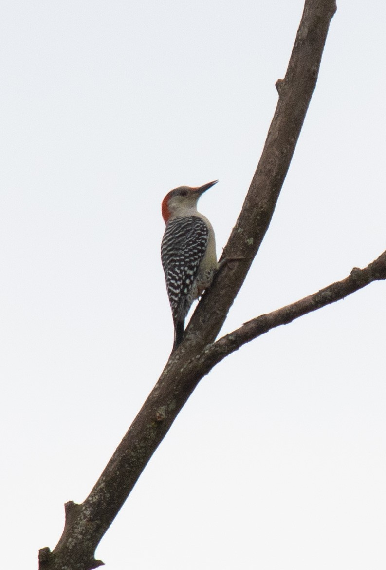
<path fill-rule="evenodd" d="M 196 298 L 192 286 L 206 251 L 208 233 L 206 223 L 196 216 L 176 218 L 166 226 L 161 259 L 174 322 L 186 317 Z"/>

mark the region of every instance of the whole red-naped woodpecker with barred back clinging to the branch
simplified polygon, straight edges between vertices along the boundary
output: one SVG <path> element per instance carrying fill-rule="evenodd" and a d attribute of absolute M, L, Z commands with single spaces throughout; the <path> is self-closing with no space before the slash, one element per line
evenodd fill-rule
<path fill-rule="evenodd" d="M 218 180 L 198 188 L 179 186 L 162 201 L 166 223 L 161 260 L 174 323 L 173 351 L 183 339 L 185 317 L 210 286 L 219 264 L 211 222 L 197 211 L 199 197 Z"/>

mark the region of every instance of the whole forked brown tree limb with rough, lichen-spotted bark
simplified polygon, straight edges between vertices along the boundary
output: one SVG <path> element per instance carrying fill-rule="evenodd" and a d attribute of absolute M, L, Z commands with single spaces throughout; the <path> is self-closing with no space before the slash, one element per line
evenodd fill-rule
<path fill-rule="evenodd" d="M 379 270 L 383 276 L 375 277 L 375 270 L 372 274 L 371 271 L 366 273 L 368 268 L 358 270 L 360 274 L 354 271 L 347 278 L 348 282 L 335 283 L 330 286 L 331 290 L 326 288 L 324 293 L 319 292 L 294 306 L 258 317 L 232 333 L 233 336 L 227 335 L 211 344 L 268 229 L 317 82 L 328 26 L 335 10 L 335 0 L 306 0 L 288 70 L 285 78 L 277 82 L 278 105 L 261 160 L 224 250 L 224 256 L 234 260 L 224 265 L 203 296 L 183 343 L 173 353 L 87 499 L 81 504 L 66 503 L 63 535 L 53 552 L 47 547 L 40 550 L 40 570 L 89 570 L 102 564 L 94 557 L 98 543 L 180 409 L 200 379 L 217 362 L 269 328 L 342 298 L 369 280 L 384 279 L 384 265 L 383 270 Z M 362 277 L 358 280 L 359 275 Z"/>

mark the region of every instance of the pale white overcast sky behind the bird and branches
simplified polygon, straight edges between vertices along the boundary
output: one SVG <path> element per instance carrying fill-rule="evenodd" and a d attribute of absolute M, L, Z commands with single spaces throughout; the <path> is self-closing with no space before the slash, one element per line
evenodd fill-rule
<path fill-rule="evenodd" d="M 220 254 L 303 0 L 3 0 L 2 567 L 36 568 L 158 379 L 171 188 Z M 338 0 L 273 222 L 224 332 L 386 248 L 383 0 Z M 386 566 L 386 284 L 204 378 L 97 549 L 108 570 Z"/>

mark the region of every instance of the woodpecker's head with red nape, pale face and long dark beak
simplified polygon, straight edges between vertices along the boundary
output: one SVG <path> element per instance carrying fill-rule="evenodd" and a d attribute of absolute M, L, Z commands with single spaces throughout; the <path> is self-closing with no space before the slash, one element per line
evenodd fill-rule
<path fill-rule="evenodd" d="M 208 182 L 198 188 L 190 186 L 179 186 L 170 190 L 162 200 L 162 217 L 165 223 L 173 218 L 182 218 L 186 215 L 194 215 L 197 211 L 197 202 L 199 197 L 217 184 L 218 180 Z"/>

